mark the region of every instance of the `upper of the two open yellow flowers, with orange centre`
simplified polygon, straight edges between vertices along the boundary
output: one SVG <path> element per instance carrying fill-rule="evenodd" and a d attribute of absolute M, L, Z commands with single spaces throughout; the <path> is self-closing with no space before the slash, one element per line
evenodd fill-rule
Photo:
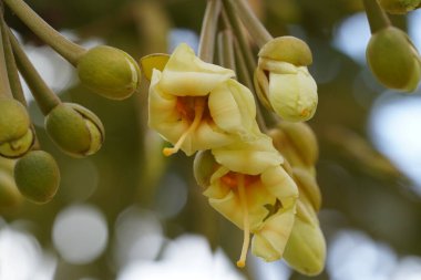
<path fill-rule="evenodd" d="M 148 125 L 187 155 L 253 138 L 257 124 L 251 92 L 230 79 L 234 72 L 205 63 L 181 44 L 164 70 L 154 70 Z"/>

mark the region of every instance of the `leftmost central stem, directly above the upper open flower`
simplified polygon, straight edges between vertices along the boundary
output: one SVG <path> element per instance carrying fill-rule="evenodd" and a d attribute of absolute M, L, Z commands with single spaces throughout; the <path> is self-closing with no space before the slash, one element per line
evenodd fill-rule
<path fill-rule="evenodd" d="M 213 62 L 214 60 L 219 12 L 220 0 L 207 0 L 198 43 L 198 56 L 205 62 Z"/>

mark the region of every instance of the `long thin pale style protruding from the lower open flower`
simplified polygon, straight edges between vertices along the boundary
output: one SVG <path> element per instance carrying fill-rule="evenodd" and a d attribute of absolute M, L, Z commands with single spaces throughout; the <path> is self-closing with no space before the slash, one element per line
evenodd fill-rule
<path fill-rule="evenodd" d="M 238 174 L 238 194 L 239 203 L 243 210 L 243 230 L 244 230 L 244 241 L 242 248 L 242 255 L 237 261 L 237 267 L 244 268 L 246 266 L 247 251 L 250 243 L 250 225 L 248 222 L 248 208 L 247 208 L 247 197 L 245 189 L 244 175 Z"/>

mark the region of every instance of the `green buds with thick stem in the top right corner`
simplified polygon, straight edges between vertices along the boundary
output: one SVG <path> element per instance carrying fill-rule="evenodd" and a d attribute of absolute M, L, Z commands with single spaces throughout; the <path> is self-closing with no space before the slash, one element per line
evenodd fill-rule
<path fill-rule="evenodd" d="M 367 45 L 367 62 L 377 80 L 388 89 L 415 91 L 421 80 L 421 56 L 408 34 L 391 25 L 384 11 L 405 13 L 420 4 L 419 0 L 364 0 L 372 33 Z"/>

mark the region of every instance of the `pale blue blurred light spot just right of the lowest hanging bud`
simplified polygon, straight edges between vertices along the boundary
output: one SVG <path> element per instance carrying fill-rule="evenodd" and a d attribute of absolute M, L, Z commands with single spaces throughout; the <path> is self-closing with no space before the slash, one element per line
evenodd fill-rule
<path fill-rule="evenodd" d="M 389 280 L 397 256 L 358 231 L 341 231 L 330 242 L 327 269 L 332 280 Z"/>

